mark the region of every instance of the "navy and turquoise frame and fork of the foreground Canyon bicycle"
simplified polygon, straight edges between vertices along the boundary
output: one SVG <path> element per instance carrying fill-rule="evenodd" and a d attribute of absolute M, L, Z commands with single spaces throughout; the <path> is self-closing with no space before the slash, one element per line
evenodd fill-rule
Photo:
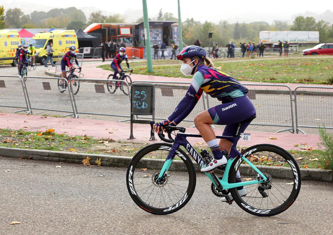
<path fill-rule="evenodd" d="M 161 172 L 159 174 L 159 179 L 169 170 L 173 158 L 175 156 L 176 150 L 179 146 L 183 146 L 187 152 L 191 155 L 191 157 L 194 159 L 194 161 L 201 167 L 205 167 L 205 162 L 201 158 L 200 154 L 192 147 L 192 145 L 186 140 L 186 137 L 201 137 L 201 135 L 197 134 L 187 134 L 187 133 L 182 133 L 178 132 L 174 143 L 171 147 L 171 150 L 169 151 L 169 154 L 166 158 L 166 161 L 163 164 L 163 167 L 161 169 Z M 226 139 L 226 138 L 237 138 L 237 137 L 232 137 L 232 136 L 216 136 L 218 139 Z M 246 185 L 251 185 L 251 184 L 258 184 L 258 183 L 263 183 L 266 182 L 267 178 L 261 173 L 261 171 L 258 170 L 249 160 L 247 160 L 244 156 L 241 156 L 241 159 L 244 160 L 249 166 L 251 166 L 261 177 L 262 179 L 259 180 L 249 180 L 246 182 L 238 182 L 238 183 L 228 183 L 228 176 L 229 176 L 229 171 L 231 164 L 235 160 L 235 158 L 229 158 L 227 161 L 227 164 L 225 166 L 224 174 L 222 177 L 222 180 L 220 180 L 214 172 L 212 173 L 206 173 L 205 174 L 208 176 L 208 178 L 211 180 L 211 182 L 219 189 L 219 190 L 225 190 L 225 189 L 230 189 L 230 188 L 236 188 L 240 186 L 246 186 Z M 235 166 L 238 168 L 241 160 L 239 160 L 237 165 Z"/>

